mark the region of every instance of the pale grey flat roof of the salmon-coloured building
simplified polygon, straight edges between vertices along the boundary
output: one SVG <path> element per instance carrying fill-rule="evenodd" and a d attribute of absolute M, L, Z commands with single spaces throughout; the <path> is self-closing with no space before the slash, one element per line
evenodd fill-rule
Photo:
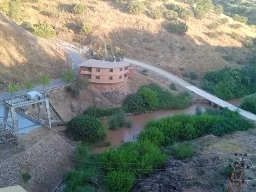
<path fill-rule="evenodd" d="M 97 67 L 97 68 L 119 68 L 126 67 L 130 65 L 127 61 L 111 62 L 111 61 L 102 61 L 96 59 L 89 59 L 80 63 L 78 66 L 81 67 Z"/>

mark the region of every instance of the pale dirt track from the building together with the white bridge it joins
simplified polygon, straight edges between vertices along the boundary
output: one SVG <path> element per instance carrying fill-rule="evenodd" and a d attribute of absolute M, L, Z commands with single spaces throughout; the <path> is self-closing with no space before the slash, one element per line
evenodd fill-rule
<path fill-rule="evenodd" d="M 189 91 L 192 91 L 192 92 L 196 93 L 197 95 L 200 95 L 200 96 L 204 97 L 205 99 L 209 100 L 212 103 L 212 106 L 217 106 L 217 108 L 226 108 L 227 107 L 231 111 L 238 110 L 240 115 L 242 115 L 248 119 L 251 119 L 253 121 L 256 121 L 256 115 L 254 115 L 248 111 L 245 111 L 241 108 L 238 108 L 224 100 L 221 100 L 220 98 L 215 97 L 215 96 L 211 95 L 210 93 L 207 93 L 207 92 L 189 84 L 188 82 L 184 81 L 180 77 L 172 75 L 171 73 L 168 73 L 167 71 L 164 71 L 163 69 L 160 69 L 158 67 L 148 65 L 146 63 L 142 63 L 139 61 L 131 60 L 131 59 L 124 58 L 124 61 L 128 61 L 134 65 L 138 65 L 140 67 L 155 71 L 156 73 L 166 77 L 170 81 L 175 82 L 175 83 L 179 84 L 180 86 L 188 89 Z"/>

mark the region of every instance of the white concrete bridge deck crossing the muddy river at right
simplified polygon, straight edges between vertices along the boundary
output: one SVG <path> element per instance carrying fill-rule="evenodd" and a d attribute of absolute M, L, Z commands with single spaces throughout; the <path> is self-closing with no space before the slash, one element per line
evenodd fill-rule
<path fill-rule="evenodd" d="M 230 109 L 232 111 L 235 111 L 235 110 L 238 109 L 240 115 L 242 115 L 242 116 L 244 116 L 244 117 L 246 117 L 248 119 L 256 121 L 256 115 L 254 115 L 254 114 L 252 114 L 252 113 L 250 113 L 248 111 L 245 111 L 245 110 L 243 110 L 241 108 L 238 108 L 238 107 L 236 107 L 236 106 L 234 106 L 234 105 L 232 105 L 232 104 L 230 104 L 230 103 L 228 103 L 228 102 L 226 102 L 224 100 L 221 100 L 220 98 L 215 97 L 215 96 L 213 96 L 213 95 L 211 95 L 211 94 L 209 94 L 209 93 L 207 93 L 207 92 L 205 92 L 205 91 L 203 91 L 201 89 L 198 89 L 195 86 L 187 86 L 185 88 L 187 88 L 188 90 L 190 90 L 190 91 L 192 91 L 192 92 L 194 92 L 194 93 L 204 97 L 205 99 L 215 103 L 216 105 L 219 105 L 222 108 L 227 107 L 228 109 Z"/>

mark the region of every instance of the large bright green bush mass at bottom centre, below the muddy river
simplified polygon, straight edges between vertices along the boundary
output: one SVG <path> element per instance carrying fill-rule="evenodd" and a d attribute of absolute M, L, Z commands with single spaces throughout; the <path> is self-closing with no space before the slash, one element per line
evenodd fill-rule
<path fill-rule="evenodd" d="M 161 166 L 167 156 L 160 149 L 148 140 L 139 142 L 128 142 L 119 148 L 112 148 L 100 154 L 100 166 L 104 166 L 107 171 L 113 169 L 131 169 L 136 176 L 146 175 L 149 169 Z M 124 171 L 124 170 L 122 170 Z"/>

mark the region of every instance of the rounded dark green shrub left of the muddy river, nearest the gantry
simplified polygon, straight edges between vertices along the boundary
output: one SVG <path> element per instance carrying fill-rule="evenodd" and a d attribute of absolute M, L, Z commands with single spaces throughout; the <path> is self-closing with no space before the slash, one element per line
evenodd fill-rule
<path fill-rule="evenodd" d="M 92 116 L 77 116 L 66 124 L 66 135 L 74 140 L 99 141 L 105 137 L 100 120 Z"/>

